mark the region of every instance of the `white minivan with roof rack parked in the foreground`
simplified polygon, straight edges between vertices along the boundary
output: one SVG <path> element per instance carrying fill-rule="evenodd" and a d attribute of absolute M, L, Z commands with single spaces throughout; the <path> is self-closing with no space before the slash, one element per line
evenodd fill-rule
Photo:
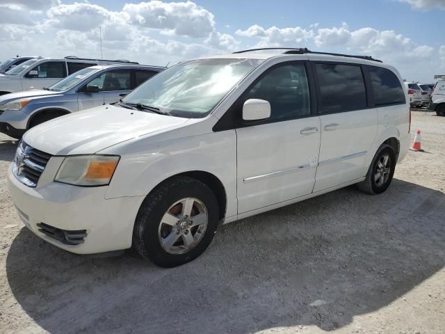
<path fill-rule="evenodd" d="M 218 225 L 350 184 L 382 193 L 410 142 L 389 65 L 307 49 L 172 66 L 24 134 L 8 173 L 24 224 L 73 253 L 195 259 Z"/>

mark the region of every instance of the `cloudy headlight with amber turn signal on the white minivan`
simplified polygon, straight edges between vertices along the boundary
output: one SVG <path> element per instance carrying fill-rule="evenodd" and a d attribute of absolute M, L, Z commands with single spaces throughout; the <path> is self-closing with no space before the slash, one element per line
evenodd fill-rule
<path fill-rule="evenodd" d="M 66 157 L 54 181 L 75 186 L 105 186 L 110 183 L 119 158 L 95 154 Z"/>

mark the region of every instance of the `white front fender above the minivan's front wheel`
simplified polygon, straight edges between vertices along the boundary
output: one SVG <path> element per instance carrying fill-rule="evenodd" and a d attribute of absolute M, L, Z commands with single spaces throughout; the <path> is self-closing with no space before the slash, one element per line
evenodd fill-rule
<path fill-rule="evenodd" d="M 147 196 L 155 186 L 177 174 L 204 171 L 220 180 L 227 194 L 226 216 L 236 214 L 236 135 L 234 130 L 156 141 L 156 136 L 127 145 L 106 198 Z M 165 135 L 166 136 L 166 135 Z M 118 154 L 124 150 L 106 150 Z M 113 153 L 114 152 L 114 153 Z M 101 152 L 102 153 L 102 152 Z"/>

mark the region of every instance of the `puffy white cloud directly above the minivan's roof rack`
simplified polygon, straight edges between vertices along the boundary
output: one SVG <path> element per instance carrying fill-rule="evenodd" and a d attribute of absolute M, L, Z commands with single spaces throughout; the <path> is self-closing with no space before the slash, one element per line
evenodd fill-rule
<path fill-rule="evenodd" d="M 255 47 L 289 47 L 294 45 L 301 45 L 302 42 L 312 38 L 312 30 L 296 26 L 295 28 L 277 28 L 271 26 L 268 29 L 264 29 L 262 26 L 254 24 L 248 29 L 242 31 L 236 31 L 236 35 L 248 38 L 258 38 L 259 42 Z"/>

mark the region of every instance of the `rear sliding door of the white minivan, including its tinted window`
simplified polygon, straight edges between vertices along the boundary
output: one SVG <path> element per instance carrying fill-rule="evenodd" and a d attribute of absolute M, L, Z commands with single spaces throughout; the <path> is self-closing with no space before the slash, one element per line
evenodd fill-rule
<path fill-rule="evenodd" d="M 378 111 L 367 108 L 359 65 L 316 63 L 314 67 L 321 119 L 316 192 L 364 176 L 366 156 L 377 135 Z"/>

